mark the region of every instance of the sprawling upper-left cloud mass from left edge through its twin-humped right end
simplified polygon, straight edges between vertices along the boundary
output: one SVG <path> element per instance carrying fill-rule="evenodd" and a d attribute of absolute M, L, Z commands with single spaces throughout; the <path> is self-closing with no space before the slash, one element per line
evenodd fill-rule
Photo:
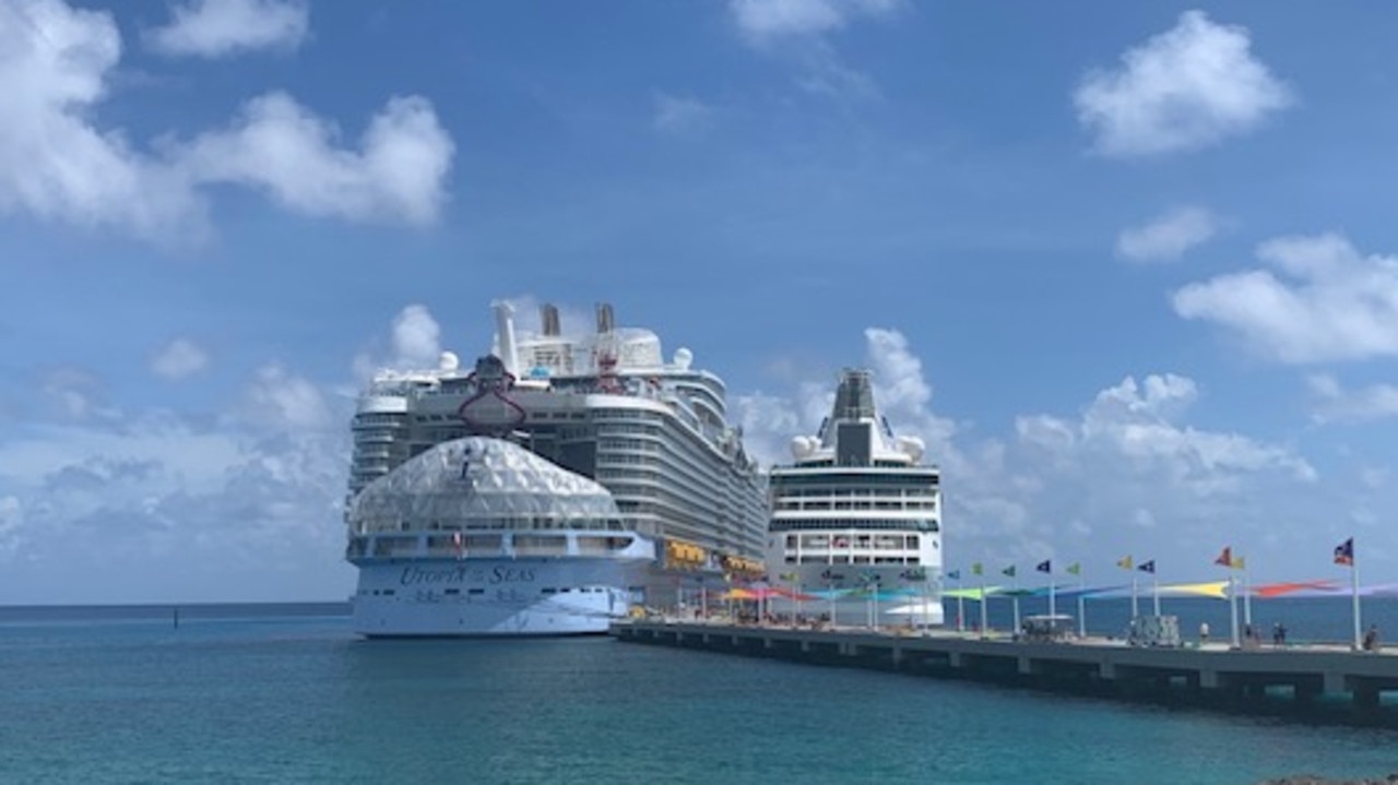
<path fill-rule="evenodd" d="M 422 98 L 390 99 L 358 151 L 280 92 L 224 130 L 147 151 L 96 120 L 120 54 L 108 13 L 0 0 L 0 212 L 187 239 L 207 228 L 207 186 L 250 186 L 292 211 L 352 221 L 421 225 L 445 201 L 454 145 Z"/>

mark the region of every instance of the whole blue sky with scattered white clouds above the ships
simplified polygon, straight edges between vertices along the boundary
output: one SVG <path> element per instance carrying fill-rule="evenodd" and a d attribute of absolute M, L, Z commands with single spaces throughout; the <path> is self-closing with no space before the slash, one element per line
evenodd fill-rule
<path fill-rule="evenodd" d="M 0 0 L 0 603 L 343 599 L 356 390 L 598 302 L 948 568 L 1398 581 L 1398 7 Z"/>

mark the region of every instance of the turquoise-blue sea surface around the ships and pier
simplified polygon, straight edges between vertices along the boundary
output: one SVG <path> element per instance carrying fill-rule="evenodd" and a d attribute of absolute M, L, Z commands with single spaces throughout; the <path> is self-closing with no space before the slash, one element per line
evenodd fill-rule
<path fill-rule="evenodd" d="M 1127 612 L 1088 606 L 1099 631 Z M 1165 612 L 1227 630 L 1226 602 Z M 1398 633 L 1392 601 L 1364 615 Z M 1352 626 L 1343 599 L 1254 605 L 1260 624 L 1274 617 L 1292 638 L 1348 640 Z M 178 626 L 172 606 L 0 608 L 0 782 L 17 784 L 1246 785 L 1398 771 L 1392 729 L 605 637 L 365 641 L 343 603 L 182 606 Z"/>

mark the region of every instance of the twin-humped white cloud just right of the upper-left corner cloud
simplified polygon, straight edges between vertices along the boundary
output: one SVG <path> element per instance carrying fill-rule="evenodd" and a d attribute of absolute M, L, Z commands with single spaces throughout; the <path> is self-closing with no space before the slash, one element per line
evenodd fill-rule
<path fill-rule="evenodd" d="M 454 145 L 432 105 L 393 98 L 373 116 L 361 151 L 338 147 L 338 131 L 280 92 L 250 101 L 224 131 L 178 152 L 200 182 L 268 191 L 309 215 L 428 223 L 446 200 Z"/>

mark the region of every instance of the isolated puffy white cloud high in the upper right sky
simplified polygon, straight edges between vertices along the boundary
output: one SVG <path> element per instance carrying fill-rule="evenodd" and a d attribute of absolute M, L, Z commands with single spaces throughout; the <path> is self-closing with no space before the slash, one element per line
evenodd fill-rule
<path fill-rule="evenodd" d="M 1195 149 L 1248 133 L 1293 103 L 1250 47 L 1247 28 L 1186 11 L 1173 29 L 1123 54 L 1121 68 L 1083 77 L 1074 94 L 1078 119 L 1096 134 L 1096 149 L 1113 156 Z"/>

